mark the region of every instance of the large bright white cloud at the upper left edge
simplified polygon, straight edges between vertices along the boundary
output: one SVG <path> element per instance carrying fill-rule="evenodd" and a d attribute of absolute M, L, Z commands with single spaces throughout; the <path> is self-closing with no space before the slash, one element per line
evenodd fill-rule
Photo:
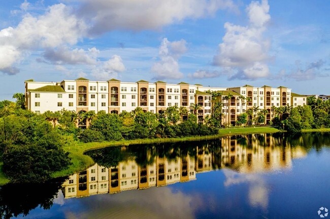
<path fill-rule="evenodd" d="M 21 5 L 22 9 L 27 7 L 27 2 Z M 17 27 L 0 30 L 0 56 L 4 56 L 0 57 L 0 71 L 8 73 L 8 69 L 15 69 L 12 66 L 30 51 L 75 45 L 86 28 L 84 21 L 63 4 L 50 6 L 39 17 L 27 13 Z"/>

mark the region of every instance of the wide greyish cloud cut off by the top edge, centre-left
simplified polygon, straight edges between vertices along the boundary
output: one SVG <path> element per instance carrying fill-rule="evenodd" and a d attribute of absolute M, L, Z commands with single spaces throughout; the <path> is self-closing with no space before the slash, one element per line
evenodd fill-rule
<path fill-rule="evenodd" d="M 89 21 L 91 35 L 114 29 L 145 30 L 184 19 L 213 15 L 219 9 L 237 11 L 232 0 L 83 0 L 78 15 Z"/>

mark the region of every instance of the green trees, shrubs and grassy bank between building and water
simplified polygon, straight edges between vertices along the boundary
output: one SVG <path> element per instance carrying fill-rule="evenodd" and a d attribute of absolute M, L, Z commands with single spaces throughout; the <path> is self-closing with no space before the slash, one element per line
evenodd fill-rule
<path fill-rule="evenodd" d="M 197 123 L 195 112 L 169 107 L 163 114 L 134 112 L 108 114 L 72 111 L 36 114 L 24 109 L 21 95 L 17 102 L 0 102 L 0 184 L 41 182 L 68 176 L 94 163 L 83 153 L 115 145 L 197 141 L 226 135 L 275 132 L 329 132 L 330 104 L 309 98 L 303 107 L 274 108 L 271 126 L 257 109 L 243 113 L 234 127 L 223 126 L 221 108 L 212 109 L 204 123 Z M 86 120 L 87 129 L 77 128 Z M 249 124 L 249 127 L 244 127 Z M 260 127 L 259 127 L 260 126 Z"/>

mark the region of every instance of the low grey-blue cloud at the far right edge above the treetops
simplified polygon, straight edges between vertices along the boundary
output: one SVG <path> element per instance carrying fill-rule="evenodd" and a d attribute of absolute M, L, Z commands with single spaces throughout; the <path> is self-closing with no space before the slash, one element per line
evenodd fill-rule
<path fill-rule="evenodd" d="M 273 79 L 287 80 L 293 79 L 296 81 L 302 80 L 311 80 L 316 77 L 328 77 L 330 76 L 328 73 L 324 73 L 322 71 L 322 67 L 324 66 L 325 61 L 319 59 L 315 62 L 308 63 L 306 67 L 302 67 L 300 61 L 295 62 L 295 69 L 287 72 L 285 69 L 282 69 L 278 74 L 273 76 Z"/>

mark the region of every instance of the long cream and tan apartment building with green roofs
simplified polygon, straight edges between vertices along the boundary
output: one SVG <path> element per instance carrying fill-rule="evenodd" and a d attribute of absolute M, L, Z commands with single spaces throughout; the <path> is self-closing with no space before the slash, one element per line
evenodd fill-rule
<path fill-rule="evenodd" d="M 216 100 L 212 100 L 208 92 L 216 93 Z M 268 122 L 272 118 L 273 106 L 303 106 L 306 101 L 305 96 L 292 95 L 291 89 L 284 86 L 254 87 L 246 84 L 240 87 L 204 87 L 202 84 L 185 82 L 122 82 L 117 79 L 90 81 L 82 77 L 61 82 L 25 81 L 26 108 L 37 113 L 62 109 L 121 113 L 133 111 L 136 107 L 161 113 L 171 106 L 186 107 L 193 112 L 190 107 L 199 106 L 196 115 L 198 121 L 203 123 L 211 114 L 212 104 L 222 102 L 223 123 L 235 124 L 237 116 L 252 107 L 268 110 Z"/>

